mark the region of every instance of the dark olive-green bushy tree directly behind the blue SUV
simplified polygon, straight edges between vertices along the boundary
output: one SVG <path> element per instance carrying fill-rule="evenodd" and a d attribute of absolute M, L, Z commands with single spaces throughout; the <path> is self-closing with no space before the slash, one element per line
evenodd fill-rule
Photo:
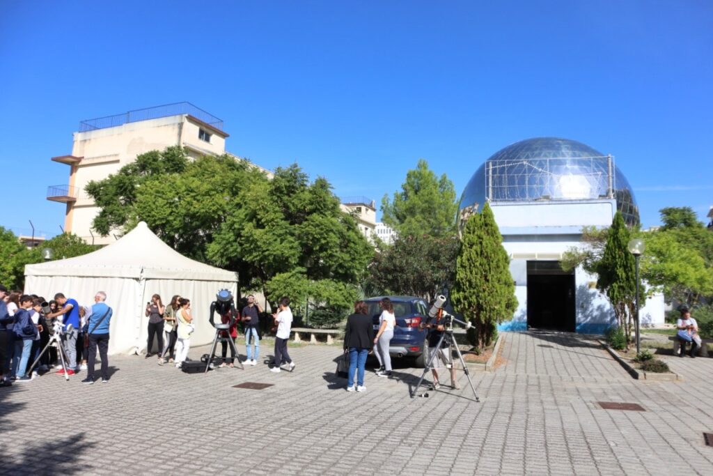
<path fill-rule="evenodd" d="M 398 236 L 374 256 L 368 284 L 379 294 L 414 295 L 430 301 L 453 281 L 459 248 L 456 236 Z"/>

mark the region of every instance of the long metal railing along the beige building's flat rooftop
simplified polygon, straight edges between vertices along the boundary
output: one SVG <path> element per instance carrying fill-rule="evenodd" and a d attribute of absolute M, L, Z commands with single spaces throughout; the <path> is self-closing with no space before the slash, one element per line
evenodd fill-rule
<path fill-rule="evenodd" d="M 151 108 L 136 109 L 123 114 L 115 114 L 114 116 L 99 117 L 95 119 L 87 119 L 79 123 L 79 132 L 96 131 L 108 127 L 121 126 L 125 123 L 148 121 L 150 119 L 158 119 L 161 117 L 180 116 L 188 114 L 195 117 L 199 121 L 203 121 L 210 126 L 223 130 L 223 121 L 220 118 L 213 116 L 207 111 L 203 111 L 197 106 L 188 102 L 164 104 L 163 106 L 154 106 Z"/>

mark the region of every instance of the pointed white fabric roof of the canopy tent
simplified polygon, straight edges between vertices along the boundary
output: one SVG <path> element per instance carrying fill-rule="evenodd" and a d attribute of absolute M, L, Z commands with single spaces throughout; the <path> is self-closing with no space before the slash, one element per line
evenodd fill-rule
<path fill-rule="evenodd" d="M 25 275 L 237 281 L 237 273 L 186 258 L 155 236 L 145 222 L 119 240 L 75 258 L 25 266 Z"/>

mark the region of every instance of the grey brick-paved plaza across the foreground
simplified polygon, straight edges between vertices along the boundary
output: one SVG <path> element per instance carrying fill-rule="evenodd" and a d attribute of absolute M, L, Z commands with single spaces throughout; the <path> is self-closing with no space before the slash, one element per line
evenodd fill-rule
<path fill-rule="evenodd" d="M 421 371 L 398 366 L 347 393 L 329 345 L 290 350 L 292 373 L 115 356 L 106 384 L 44 375 L 0 388 L 0 474 L 713 474 L 713 359 L 665 357 L 684 380 L 647 382 L 580 335 L 504 338 L 503 365 L 471 374 L 480 403 L 462 373 L 463 390 L 411 398 Z"/>

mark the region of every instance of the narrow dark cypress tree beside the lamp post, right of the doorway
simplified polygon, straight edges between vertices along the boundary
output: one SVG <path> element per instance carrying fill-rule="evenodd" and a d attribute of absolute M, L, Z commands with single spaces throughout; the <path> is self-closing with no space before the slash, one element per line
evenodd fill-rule
<path fill-rule="evenodd" d="M 607 296 L 614 308 L 617 323 L 626 335 L 627 345 L 631 340 L 636 295 L 635 259 L 628 248 L 630 238 L 624 218 L 617 211 L 607 232 L 604 253 L 597 263 L 597 289 Z M 641 295 L 644 295 L 643 291 Z"/>

